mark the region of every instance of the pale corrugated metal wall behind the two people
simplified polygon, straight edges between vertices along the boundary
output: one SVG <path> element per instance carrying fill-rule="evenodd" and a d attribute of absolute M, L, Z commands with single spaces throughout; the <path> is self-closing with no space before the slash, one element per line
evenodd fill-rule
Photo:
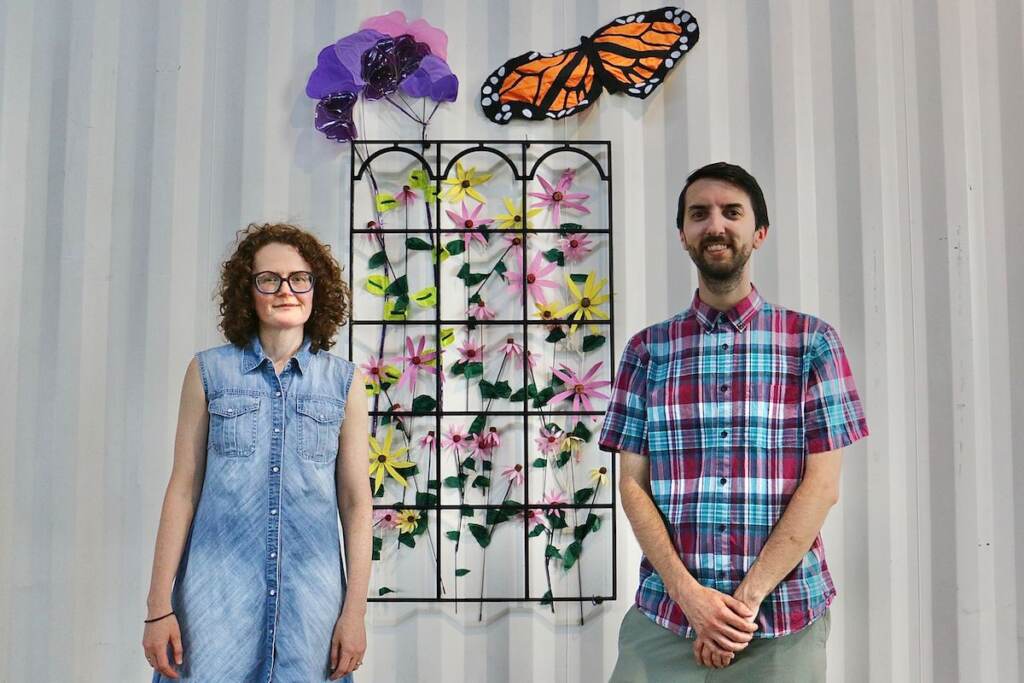
<path fill-rule="evenodd" d="M 825 527 L 830 680 L 1021 680 L 1019 0 L 694 0 L 700 43 L 656 96 L 504 128 L 475 103 L 490 69 L 643 7 L 0 2 L 0 680 L 146 676 L 177 394 L 217 342 L 218 261 L 268 218 L 347 253 L 347 155 L 302 90 L 321 46 L 392 8 L 451 37 L 464 91 L 433 137 L 612 141 L 617 348 L 695 287 L 672 228 L 687 170 L 729 159 L 762 179 L 755 282 L 839 327 L 872 429 Z M 414 133 L 361 116 L 367 137 Z M 606 678 L 639 558 L 621 521 L 623 597 L 585 628 L 375 607 L 362 680 Z"/>

